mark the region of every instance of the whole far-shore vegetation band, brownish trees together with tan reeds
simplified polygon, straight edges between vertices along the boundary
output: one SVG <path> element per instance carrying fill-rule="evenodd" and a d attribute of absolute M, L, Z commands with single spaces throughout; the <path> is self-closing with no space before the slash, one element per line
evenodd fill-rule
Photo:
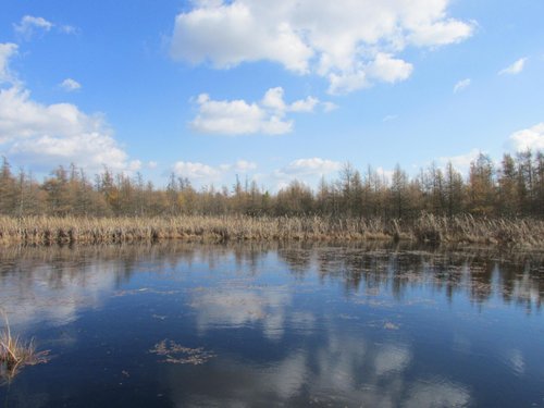
<path fill-rule="evenodd" d="M 171 175 L 156 188 L 108 169 L 90 182 L 59 166 L 41 183 L 0 171 L 0 244 L 407 239 L 423 243 L 544 245 L 544 156 L 480 154 L 465 180 L 449 163 L 417 177 L 350 164 L 317 190 L 294 181 L 275 194 L 239 180 L 232 188 Z"/>

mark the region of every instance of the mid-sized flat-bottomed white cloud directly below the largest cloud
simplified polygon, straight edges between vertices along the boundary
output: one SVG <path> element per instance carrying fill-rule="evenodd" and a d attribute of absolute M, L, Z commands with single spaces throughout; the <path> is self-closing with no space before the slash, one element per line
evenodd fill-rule
<path fill-rule="evenodd" d="M 313 97 L 286 103 L 281 87 L 267 90 L 259 102 L 212 100 L 207 94 L 199 95 L 196 102 L 198 114 L 190 122 L 191 127 L 217 135 L 283 135 L 294 126 L 294 121 L 285 118 L 287 113 L 313 112 L 320 103 Z"/>

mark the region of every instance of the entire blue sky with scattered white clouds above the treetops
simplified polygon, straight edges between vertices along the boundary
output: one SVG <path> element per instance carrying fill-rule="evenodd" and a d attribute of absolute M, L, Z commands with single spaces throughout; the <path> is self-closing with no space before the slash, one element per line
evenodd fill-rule
<path fill-rule="evenodd" d="M 277 190 L 544 150 L 542 0 L 4 0 L 0 154 Z"/>

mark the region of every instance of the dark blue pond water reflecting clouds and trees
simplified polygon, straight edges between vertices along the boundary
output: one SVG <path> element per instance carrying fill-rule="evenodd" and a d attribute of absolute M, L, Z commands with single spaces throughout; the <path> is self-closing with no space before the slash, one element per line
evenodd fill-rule
<path fill-rule="evenodd" d="M 50 359 L 4 381 L 0 406 L 544 407 L 543 258 L 4 249 L 0 307 Z"/>

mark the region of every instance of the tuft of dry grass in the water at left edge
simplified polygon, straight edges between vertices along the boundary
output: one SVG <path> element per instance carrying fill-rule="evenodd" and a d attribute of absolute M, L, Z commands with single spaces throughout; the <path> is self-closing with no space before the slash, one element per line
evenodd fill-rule
<path fill-rule="evenodd" d="M 25 366 L 36 366 L 48 361 L 49 350 L 36 351 L 34 338 L 22 341 L 11 334 L 10 322 L 5 312 L 0 311 L 4 319 L 4 327 L 0 333 L 0 384 L 11 382 Z"/>

